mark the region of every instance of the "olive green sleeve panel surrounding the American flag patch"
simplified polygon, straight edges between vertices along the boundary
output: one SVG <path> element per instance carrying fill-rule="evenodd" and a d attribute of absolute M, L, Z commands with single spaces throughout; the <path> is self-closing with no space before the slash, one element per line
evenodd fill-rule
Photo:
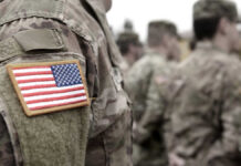
<path fill-rule="evenodd" d="M 24 35 L 31 31 L 33 32 L 35 30 L 29 30 L 25 33 L 22 31 L 21 39 L 23 40 Z M 45 34 L 49 34 L 48 37 L 45 35 L 46 39 L 53 38 L 51 33 Z M 20 39 L 18 33 L 15 33 L 15 37 Z M 21 43 L 22 40 L 19 42 Z M 34 42 L 38 42 L 38 40 Z M 18 42 L 15 42 L 13 38 L 3 40 L 0 45 L 6 45 L 7 43 L 13 43 L 13 50 L 12 56 L 1 62 L 0 65 L 0 98 L 2 98 L 1 104 L 3 103 L 6 106 L 4 114 L 9 114 L 8 120 L 13 123 L 18 133 L 23 165 L 84 166 L 90 125 L 90 107 L 78 107 L 59 113 L 28 117 L 22 110 L 4 66 L 9 63 L 53 62 L 76 60 L 77 58 L 82 68 L 85 69 L 83 55 L 78 54 L 76 56 L 76 53 L 69 52 L 39 52 L 38 54 L 31 54 L 24 53 L 21 48 L 18 46 Z M 36 45 L 40 45 L 42 41 L 39 41 Z M 0 50 L 1 48 L 3 46 L 0 46 Z M 8 124 L 7 126 L 8 128 L 11 127 Z M 9 129 L 9 134 L 11 136 L 14 132 Z M 15 147 L 18 145 L 13 144 L 13 141 L 11 141 L 11 143 L 14 153 L 17 153 Z M 17 157 L 18 156 L 15 155 L 15 159 L 18 159 Z"/>

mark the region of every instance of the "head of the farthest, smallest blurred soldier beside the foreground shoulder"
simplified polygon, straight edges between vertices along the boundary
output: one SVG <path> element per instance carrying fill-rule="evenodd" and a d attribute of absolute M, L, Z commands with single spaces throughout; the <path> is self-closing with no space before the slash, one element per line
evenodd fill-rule
<path fill-rule="evenodd" d="M 123 56 L 132 56 L 135 61 L 140 58 L 143 45 L 135 32 L 125 31 L 119 33 L 116 43 Z"/>

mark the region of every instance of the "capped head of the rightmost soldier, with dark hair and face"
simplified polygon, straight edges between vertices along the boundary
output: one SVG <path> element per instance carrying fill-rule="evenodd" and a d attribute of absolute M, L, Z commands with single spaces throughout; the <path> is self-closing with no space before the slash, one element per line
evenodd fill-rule
<path fill-rule="evenodd" d="M 228 51 L 239 48 L 238 11 L 229 0 L 199 0 L 193 6 L 193 31 L 197 41 L 219 39 Z"/>

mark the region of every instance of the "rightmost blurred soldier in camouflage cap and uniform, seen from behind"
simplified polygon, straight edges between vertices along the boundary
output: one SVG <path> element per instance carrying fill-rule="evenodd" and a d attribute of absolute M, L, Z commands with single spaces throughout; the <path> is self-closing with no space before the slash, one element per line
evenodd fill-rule
<path fill-rule="evenodd" d="M 167 133 L 175 166 L 239 166 L 241 64 L 235 4 L 199 0 L 193 6 L 197 48 L 168 83 Z"/>

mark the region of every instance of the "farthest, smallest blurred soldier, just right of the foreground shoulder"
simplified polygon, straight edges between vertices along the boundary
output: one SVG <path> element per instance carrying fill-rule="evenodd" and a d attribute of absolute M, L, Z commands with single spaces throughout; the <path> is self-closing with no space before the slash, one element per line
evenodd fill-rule
<path fill-rule="evenodd" d="M 133 31 L 132 22 L 126 21 L 124 28 L 125 30 L 118 34 L 116 43 L 125 60 L 122 69 L 126 73 L 143 55 L 143 44 L 139 41 L 139 35 Z"/>

